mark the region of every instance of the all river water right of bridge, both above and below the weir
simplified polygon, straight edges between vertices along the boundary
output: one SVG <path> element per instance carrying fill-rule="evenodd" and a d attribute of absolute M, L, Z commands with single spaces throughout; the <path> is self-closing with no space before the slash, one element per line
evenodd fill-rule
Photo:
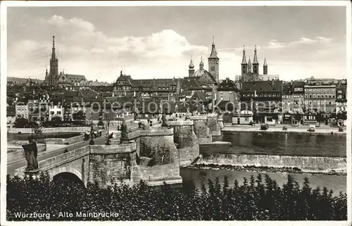
<path fill-rule="evenodd" d="M 285 156 L 326 156 L 346 157 L 346 135 L 331 134 L 294 134 L 294 133 L 265 133 L 258 132 L 233 132 L 220 137 L 213 137 L 213 141 L 231 142 L 232 146 L 222 146 L 217 150 L 201 149 L 201 153 L 246 153 Z M 230 185 L 234 180 L 239 183 L 243 178 L 248 180 L 251 175 L 256 177 L 259 172 L 220 170 L 220 169 L 194 169 L 182 168 L 180 174 L 184 183 L 193 182 L 200 188 L 201 184 L 207 184 L 207 180 L 215 180 L 219 177 L 220 182 L 227 176 Z M 262 176 L 268 174 L 281 186 L 287 182 L 287 173 L 284 172 L 260 172 Z M 291 173 L 296 181 L 302 185 L 303 178 L 308 177 L 310 187 L 327 187 L 334 194 L 346 192 L 346 176 L 341 175 L 312 175 L 303 173 Z M 264 178 L 264 177 L 263 177 Z"/>

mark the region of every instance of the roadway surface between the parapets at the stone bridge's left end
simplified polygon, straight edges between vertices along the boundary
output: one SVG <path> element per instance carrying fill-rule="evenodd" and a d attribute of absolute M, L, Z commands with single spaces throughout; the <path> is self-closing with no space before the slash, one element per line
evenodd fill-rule
<path fill-rule="evenodd" d="M 98 137 L 98 138 L 94 139 L 94 144 L 105 144 L 105 142 L 106 142 L 106 137 Z M 64 147 L 62 149 L 57 149 L 55 151 L 45 153 L 42 156 L 38 156 L 37 161 L 39 162 L 39 161 L 42 161 L 47 158 L 58 156 L 58 155 L 62 154 L 63 151 L 65 151 L 65 149 L 68 149 L 68 151 L 73 151 L 75 149 L 79 149 L 82 146 L 87 146 L 88 144 L 89 144 L 89 141 L 84 141 L 84 142 L 78 142 L 76 144 L 72 144 L 72 145 Z M 25 160 L 25 158 L 23 158 L 23 161 L 9 164 L 9 165 L 7 165 L 6 174 L 9 174 L 11 177 L 13 177 L 15 174 L 15 169 L 21 168 L 25 165 L 27 165 L 27 161 Z"/>

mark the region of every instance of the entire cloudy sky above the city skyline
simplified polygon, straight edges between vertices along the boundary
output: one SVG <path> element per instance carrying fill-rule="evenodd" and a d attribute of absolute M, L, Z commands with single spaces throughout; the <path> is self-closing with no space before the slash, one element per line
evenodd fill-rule
<path fill-rule="evenodd" d="M 9 7 L 8 76 L 44 79 L 52 36 L 59 70 L 88 80 L 187 77 L 213 36 L 220 79 L 241 74 L 243 46 L 280 80 L 346 78 L 343 6 Z"/>

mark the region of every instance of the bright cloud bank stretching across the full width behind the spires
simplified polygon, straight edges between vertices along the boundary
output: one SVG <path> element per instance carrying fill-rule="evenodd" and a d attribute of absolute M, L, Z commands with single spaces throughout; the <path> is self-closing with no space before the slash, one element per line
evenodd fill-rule
<path fill-rule="evenodd" d="M 102 32 L 93 23 L 81 18 L 64 18 L 61 15 L 37 19 L 32 26 L 41 31 L 40 37 L 21 34 L 22 38 L 27 38 L 8 42 L 8 76 L 44 79 L 45 67 L 49 68 L 50 37 L 53 34 L 56 36 L 59 70 L 85 75 L 89 80 L 113 82 L 120 75 L 120 70 L 132 75 L 134 79 L 185 77 L 188 75 L 191 56 L 196 70 L 201 56 L 204 68 L 208 69 L 206 58 L 210 54 L 211 43 L 209 46 L 190 43 L 187 37 L 168 27 L 145 36 L 121 37 Z M 111 29 L 114 29 L 113 25 Z M 288 48 L 291 48 L 290 51 L 281 51 Z M 344 68 L 341 56 L 345 57 L 345 54 L 341 53 L 346 51 L 346 47 L 336 39 L 318 36 L 280 42 L 277 38 L 271 39 L 261 48 L 257 46 L 257 49 L 260 73 L 266 56 L 269 73 L 279 74 L 284 80 L 310 77 L 315 73 L 318 74 L 317 77 L 331 77 L 338 72 L 341 77 L 346 77 L 343 75 L 344 70 L 338 70 Z M 217 50 L 220 78 L 234 79 L 234 75 L 241 73 L 243 46 Z M 247 49 L 247 57 L 251 55 L 252 58 L 252 50 L 253 46 Z M 310 61 L 319 62 L 324 67 L 311 65 Z M 340 64 L 330 69 L 327 66 L 330 61 Z"/>

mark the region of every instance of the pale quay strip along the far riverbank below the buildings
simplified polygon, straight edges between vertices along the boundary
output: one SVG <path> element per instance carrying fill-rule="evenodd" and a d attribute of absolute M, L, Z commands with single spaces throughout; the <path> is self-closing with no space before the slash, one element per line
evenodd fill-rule
<path fill-rule="evenodd" d="M 269 126 L 268 130 L 260 130 L 260 125 L 250 126 L 250 125 L 231 125 L 225 126 L 221 129 L 223 133 L 231 132 L 268 132 L 268 133 L 299 133 L 299 134 L 338 134 L 346 135 L 346 130 L 344 132 L 339 132 L 337 127 L 315 127 L 315 132 L 308 132 L 307 126 L 292 127 L 287 125 L 287 130 L 282 130 L 284 125 Z"/>

